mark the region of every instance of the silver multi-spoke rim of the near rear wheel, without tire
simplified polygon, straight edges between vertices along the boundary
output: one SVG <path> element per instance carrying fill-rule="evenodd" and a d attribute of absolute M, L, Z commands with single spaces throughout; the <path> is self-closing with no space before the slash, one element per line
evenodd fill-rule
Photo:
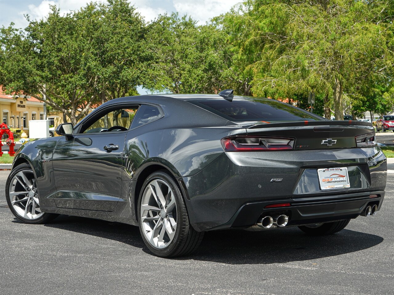
<path fill-rule="evenodd" d="M 177 230 L 177 203 L 169 184 L 161 179 L 149 182 L 140 209 L 145 237 L 155 248 L 164 249 L 173 241 Z"/>

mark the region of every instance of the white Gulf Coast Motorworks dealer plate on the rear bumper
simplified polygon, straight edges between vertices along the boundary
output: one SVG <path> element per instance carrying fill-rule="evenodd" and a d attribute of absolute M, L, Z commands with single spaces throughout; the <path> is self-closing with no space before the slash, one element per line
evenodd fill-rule
<path fill-rule="evenodd" d="M 349 188 L 348 168 L 323 168 L 318 169 L 321 190 L 332 190 L 334 188 Z"/>

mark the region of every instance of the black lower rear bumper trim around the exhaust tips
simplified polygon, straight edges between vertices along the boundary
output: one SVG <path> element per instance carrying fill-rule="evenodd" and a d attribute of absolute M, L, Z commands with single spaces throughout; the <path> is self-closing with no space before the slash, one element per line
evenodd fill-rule
<path fill-rule="evenodd" d="M 370 198 L 370 195 L 377 195 L 378 197 Z M 255 225 L 262 215 L 286 214 L 289 216 L 286 227 L 357 218 L 368 205 L 377 205 L 378 210 L 380 210 L 384 196 L 384 191 L 377 191 L 337 195 L 335 199 L 326 200 L 321 198 L 298 198 L 246 203 L 238 209 L 227 223 L 210 230 L 250 227 Z M 290 206 L 265 209 L 268 205 L 278 203 L 290 203 Z"/>

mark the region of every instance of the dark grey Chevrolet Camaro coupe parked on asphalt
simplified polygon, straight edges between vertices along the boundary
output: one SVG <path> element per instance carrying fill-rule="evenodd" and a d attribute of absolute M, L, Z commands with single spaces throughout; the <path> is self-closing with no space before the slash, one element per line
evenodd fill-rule
<path fill-rule="evenodd" d="M 136 225 L 158 256 L 191 253 L 208 230 L 333 234 L 375 215 L 385 196 L 387 161 L 370 123 L 232 90 L 117 98 L 56 133 L 15 156 L 6 183 L 15 217 Z"/>

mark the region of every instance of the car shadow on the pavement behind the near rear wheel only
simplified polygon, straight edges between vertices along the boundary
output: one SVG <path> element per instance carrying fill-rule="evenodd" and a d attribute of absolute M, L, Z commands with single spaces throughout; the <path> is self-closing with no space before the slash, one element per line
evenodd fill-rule
<path fill-rule="evenodd" d="M 383 238 L 353 230 L 308 236 L 297 227 L 248 232 L 207 232 L 193 259 L 226 264 L 272 264 L 311 260 L 368 249 Z"/>

